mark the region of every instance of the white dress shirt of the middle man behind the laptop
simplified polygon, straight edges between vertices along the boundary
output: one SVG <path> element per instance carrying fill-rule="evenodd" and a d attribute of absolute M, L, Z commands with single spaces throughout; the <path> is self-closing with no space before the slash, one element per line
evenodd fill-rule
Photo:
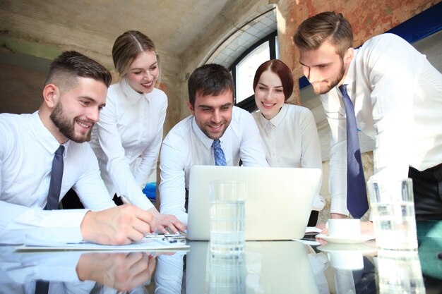
<path fill-rule="evenodd" d="M 220 137 L 227 166 L 268 166 L 261 145 L 261 137 L 253 117 L 248 111 L 234 106 L 232 121 Z M 215 165 L 212 152 L 213 139 L 207 137 L 188 116 L 170 130 L 161 148 L 160 197 L 162 214 L 173 214 L 187 224 L 186 188 L 189 188 L 189 171 L 193 165 Z"/>

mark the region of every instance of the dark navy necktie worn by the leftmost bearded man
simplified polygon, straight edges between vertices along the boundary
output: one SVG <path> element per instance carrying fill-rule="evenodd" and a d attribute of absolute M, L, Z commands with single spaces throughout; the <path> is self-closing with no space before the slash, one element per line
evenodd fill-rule
<path fill-rule="evenodd" d="M 63 179 L 63 152 L 64 146 L 60 145 L 56 149 L 54 159 L 52 159 L 51 182 L 49 183 L 49 193 L 47 194 L 47 204 L 44 209 L 59 209 L 61 180 Z"/>

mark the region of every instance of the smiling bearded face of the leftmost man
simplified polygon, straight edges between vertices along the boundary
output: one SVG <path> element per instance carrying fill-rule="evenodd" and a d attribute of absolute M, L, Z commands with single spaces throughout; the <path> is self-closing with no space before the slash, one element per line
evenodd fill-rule
<path fill-rule="evenodd" d="M 107 86 L 92 78 L 77 78 L 78 82 L 70 90 L 61 91 L 54 87 L 54 108 L 49 118 L 58 132 L 55 137 L 63 135 L 66 139 L 82 143 L 88 138 L 92 125 L 100 118 L 100 110 L 104 107 Z"/>

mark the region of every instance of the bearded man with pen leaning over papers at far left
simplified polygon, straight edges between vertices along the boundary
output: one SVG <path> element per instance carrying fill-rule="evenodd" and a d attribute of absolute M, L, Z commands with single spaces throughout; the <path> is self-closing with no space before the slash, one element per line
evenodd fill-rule
<path fill-rule="evenodd" d="M 0 243 L 123 245 L 141 240 L 155 226 L 143 209 L 115 207 L 85 142 L 111 80 L 96 61 L 66 51 L 51 63 L 38 111 L 0 114 Z M 88 209 L 44 210 L 60 145 L 64 168 L 59 199 L 73 188 Z"/>

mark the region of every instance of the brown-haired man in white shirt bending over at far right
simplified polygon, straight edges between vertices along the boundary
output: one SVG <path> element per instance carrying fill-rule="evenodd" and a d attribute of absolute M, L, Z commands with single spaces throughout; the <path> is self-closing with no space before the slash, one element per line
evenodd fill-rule
<path fill-rule="evenodd" d="M 410 177 L 416 218 L 442 219 L 442 75 L 404 39 L 383 34 L 352 48 L 341 13 L 304 20 L 294 34 L 300 63 L 331 128 L 332 218 L 347 217 L 346 118 L 340 85 L 347 85 L 357 126 L 374 138 L 372 179 Z M 372 230 L 371 222 L 363 231 Z"/>

